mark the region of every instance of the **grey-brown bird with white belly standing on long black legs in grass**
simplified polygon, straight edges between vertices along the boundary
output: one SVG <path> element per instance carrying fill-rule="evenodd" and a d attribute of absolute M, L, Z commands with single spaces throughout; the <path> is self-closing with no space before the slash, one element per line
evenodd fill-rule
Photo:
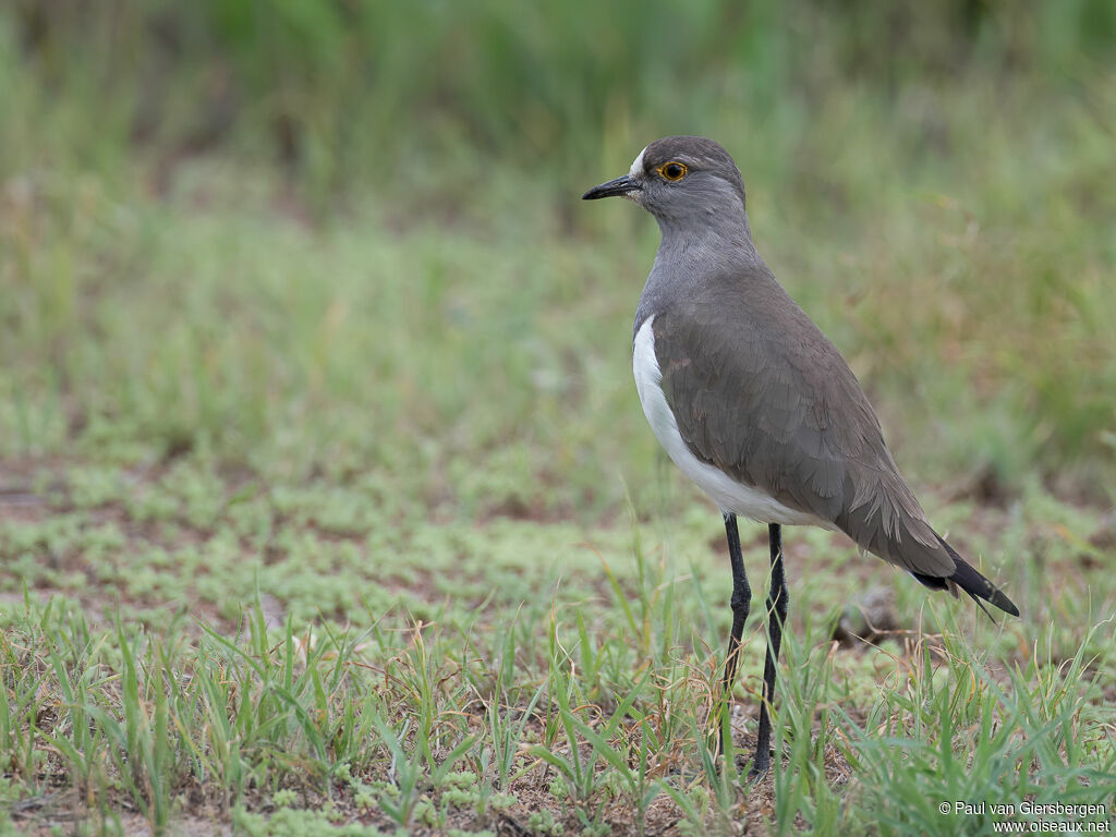
<path fill-rule="evenodd" d="M 662 239 L 636 308 L 632 366 L 643 411 L 673 462 L 721 510 L 732 568 L 732 629 L 722 677 L 731 700 L 751 587 L 737 518 L 768 527 L 771 577 L 756 754 L 771 763 L 776 666 L 787 622 L 782 527 L 847 535 L 932 589 L 1019 608 L 930 523 L 892 456 L 879 420 L 840 352 L 760 258 L 744 183 L 730 154 L 700 136 L 647 145 L 627 174 L 584 200 L 620 196 Z M 728 753 L 728 724 L 719 724 Z"/>

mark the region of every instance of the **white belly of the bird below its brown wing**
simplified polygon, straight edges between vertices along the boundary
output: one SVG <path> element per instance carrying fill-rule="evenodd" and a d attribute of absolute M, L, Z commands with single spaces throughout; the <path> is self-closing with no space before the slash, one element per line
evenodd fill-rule
<path fill-rule="evenodd" d="M 663 395 L 663 373 L 655 357 L 655 333 L 651 327 L 653 319 L 654 317 L 645 319 L 636 333 L 632 368 L 635 372 L 635 387 L 639 393 L 643 412 L 655 432 L 655 437 L 674 464 L 696 482 L 722 512 L 740 514 L 761 523 L 821 526 L 831 529 L 833 523 L 807 512 L 788 509 L 770 494 L 738 482 L 721 469 L 702 462 L 690 452 L 682 440 L 682 434 L 679 433 L 679 423 L 666 403 L 666 396 Z"/>

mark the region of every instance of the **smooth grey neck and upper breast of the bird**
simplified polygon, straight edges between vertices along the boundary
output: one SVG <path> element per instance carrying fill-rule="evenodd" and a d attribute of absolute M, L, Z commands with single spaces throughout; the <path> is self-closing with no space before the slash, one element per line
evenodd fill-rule
<path fill-rule="evenodd" d="M 655 253 L 655 263 L 639 297 L 635 315 L 635 330 L 673 301 L 691 298 L 703 282 L 727 272 L 748 275 L 763 266 L 763 260 L 752 244 L 748 215 L 722 218 L 694 225 L 674 223 L 672 219 L 657 218 L 663 240 Z"/>

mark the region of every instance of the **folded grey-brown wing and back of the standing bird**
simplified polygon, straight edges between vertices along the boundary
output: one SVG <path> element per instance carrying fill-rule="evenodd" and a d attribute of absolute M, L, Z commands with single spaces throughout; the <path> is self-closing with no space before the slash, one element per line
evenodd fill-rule
<path fill-rule="evenodd" d="M 663 391 L 695 456 L 904 569 L 953 575 L 853 372 L 770 273 L 703 286 L 653 328 Z"/>

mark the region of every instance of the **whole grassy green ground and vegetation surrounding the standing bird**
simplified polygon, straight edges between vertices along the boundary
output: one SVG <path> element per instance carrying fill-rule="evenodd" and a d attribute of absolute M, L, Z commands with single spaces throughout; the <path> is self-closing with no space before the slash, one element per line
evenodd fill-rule
<path fill-rule="evenodd" d="M 0 12 L 0 834 L 1112 820 L 1108 7 L 584 6 Z M 756 789 L 720 521 L 631 379 L 657 232 L 578 201 L 677 131 L 1022 612 L 788 531 Z"/>

